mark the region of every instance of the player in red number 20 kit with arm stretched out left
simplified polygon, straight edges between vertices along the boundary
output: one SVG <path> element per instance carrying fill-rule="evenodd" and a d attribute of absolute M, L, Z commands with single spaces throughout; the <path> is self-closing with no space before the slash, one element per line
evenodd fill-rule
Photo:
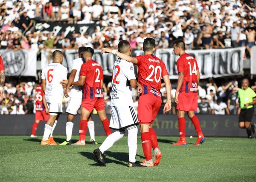
<path fill-rule="evenodd" d="M 143 42 L 145 55 L 130 57 L 110 48 L 102 48 L 102 53 L 115 54 L 123 60 L 127 60 L 138 66 L 138 82 L 143 87 L 143 92 L 139 97 L 138 119 L 141 128 L 142 148 L 145 160 L 140 163 L 147 167 L 152 167 L 160 163 L 162 153 L 159 150 L 157 135 L 152 128 L 153 121 L 157 116 L 162 103 L 161 78 L 166 85 L 167 102 L 163 108 L 164 113 L 168 113 L 171 106 L 171 83 L 166 66 L 162 60 L 153 55 L 155 51 L 155 40 L 146 38 Z M 154 150 L 152 158 L 151 148 Z"/>

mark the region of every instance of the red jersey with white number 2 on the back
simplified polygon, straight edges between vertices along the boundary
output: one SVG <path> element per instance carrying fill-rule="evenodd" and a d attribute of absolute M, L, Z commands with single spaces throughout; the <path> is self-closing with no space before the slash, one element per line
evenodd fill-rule
<path fill-rule="evenodd" d="M 103 98 L 101 80 L 103 79 L 103 70 L 101 65 L 96 61 L 89 60 L 82 64 L 81 76 L 86 76 L 84 82 L 84 96 L 85 99 Z"/>

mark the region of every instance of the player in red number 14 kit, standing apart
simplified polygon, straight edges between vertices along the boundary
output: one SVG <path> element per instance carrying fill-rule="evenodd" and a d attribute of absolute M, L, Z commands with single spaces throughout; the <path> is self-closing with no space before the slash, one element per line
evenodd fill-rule
<path fill-rule="evenodd" d="M 192 55 L 186 54 L 185 43 L 183 40 L 175 40 L 173 51 L 175 55 L 180 56 L 177 60 L 178 82 L 175 92 L 175 102 L 177 103 L 177 117 L 179 122 L 180 140 L 172 145 L 186 145 L 185 136 L 185 113 L 193 122 L 198 139 L 194 145 L 201 145 L 204 141 L 204 135 L 201 131 L 199 119 L 195 116 L 198 108 L 198 82 L 200 73 L 197 61 Z"/>

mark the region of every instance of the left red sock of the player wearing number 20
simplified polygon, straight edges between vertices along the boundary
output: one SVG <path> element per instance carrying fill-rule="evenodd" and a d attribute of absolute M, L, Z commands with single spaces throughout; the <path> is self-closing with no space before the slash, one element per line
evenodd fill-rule
<path fill-rule="evenodd" d="M 152 143 L 151 143 L 151 138 L 149 132 L 145 132 L 141 134 L 141 141 L 142 141 L 142 149 L 144 156 L 147 161 L 152 159 L 152 154 L 151 154 L 151 148 L 152 148 Z"/>

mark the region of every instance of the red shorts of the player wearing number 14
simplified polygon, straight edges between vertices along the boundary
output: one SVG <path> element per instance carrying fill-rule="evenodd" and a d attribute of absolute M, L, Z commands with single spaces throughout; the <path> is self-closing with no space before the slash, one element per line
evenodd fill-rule
<path fill-rule="evenodd" d="M 198 108 L 198 93 L 182 93 L 178 95 L 177 109 L 181 111 L 196 111 Z"/>

